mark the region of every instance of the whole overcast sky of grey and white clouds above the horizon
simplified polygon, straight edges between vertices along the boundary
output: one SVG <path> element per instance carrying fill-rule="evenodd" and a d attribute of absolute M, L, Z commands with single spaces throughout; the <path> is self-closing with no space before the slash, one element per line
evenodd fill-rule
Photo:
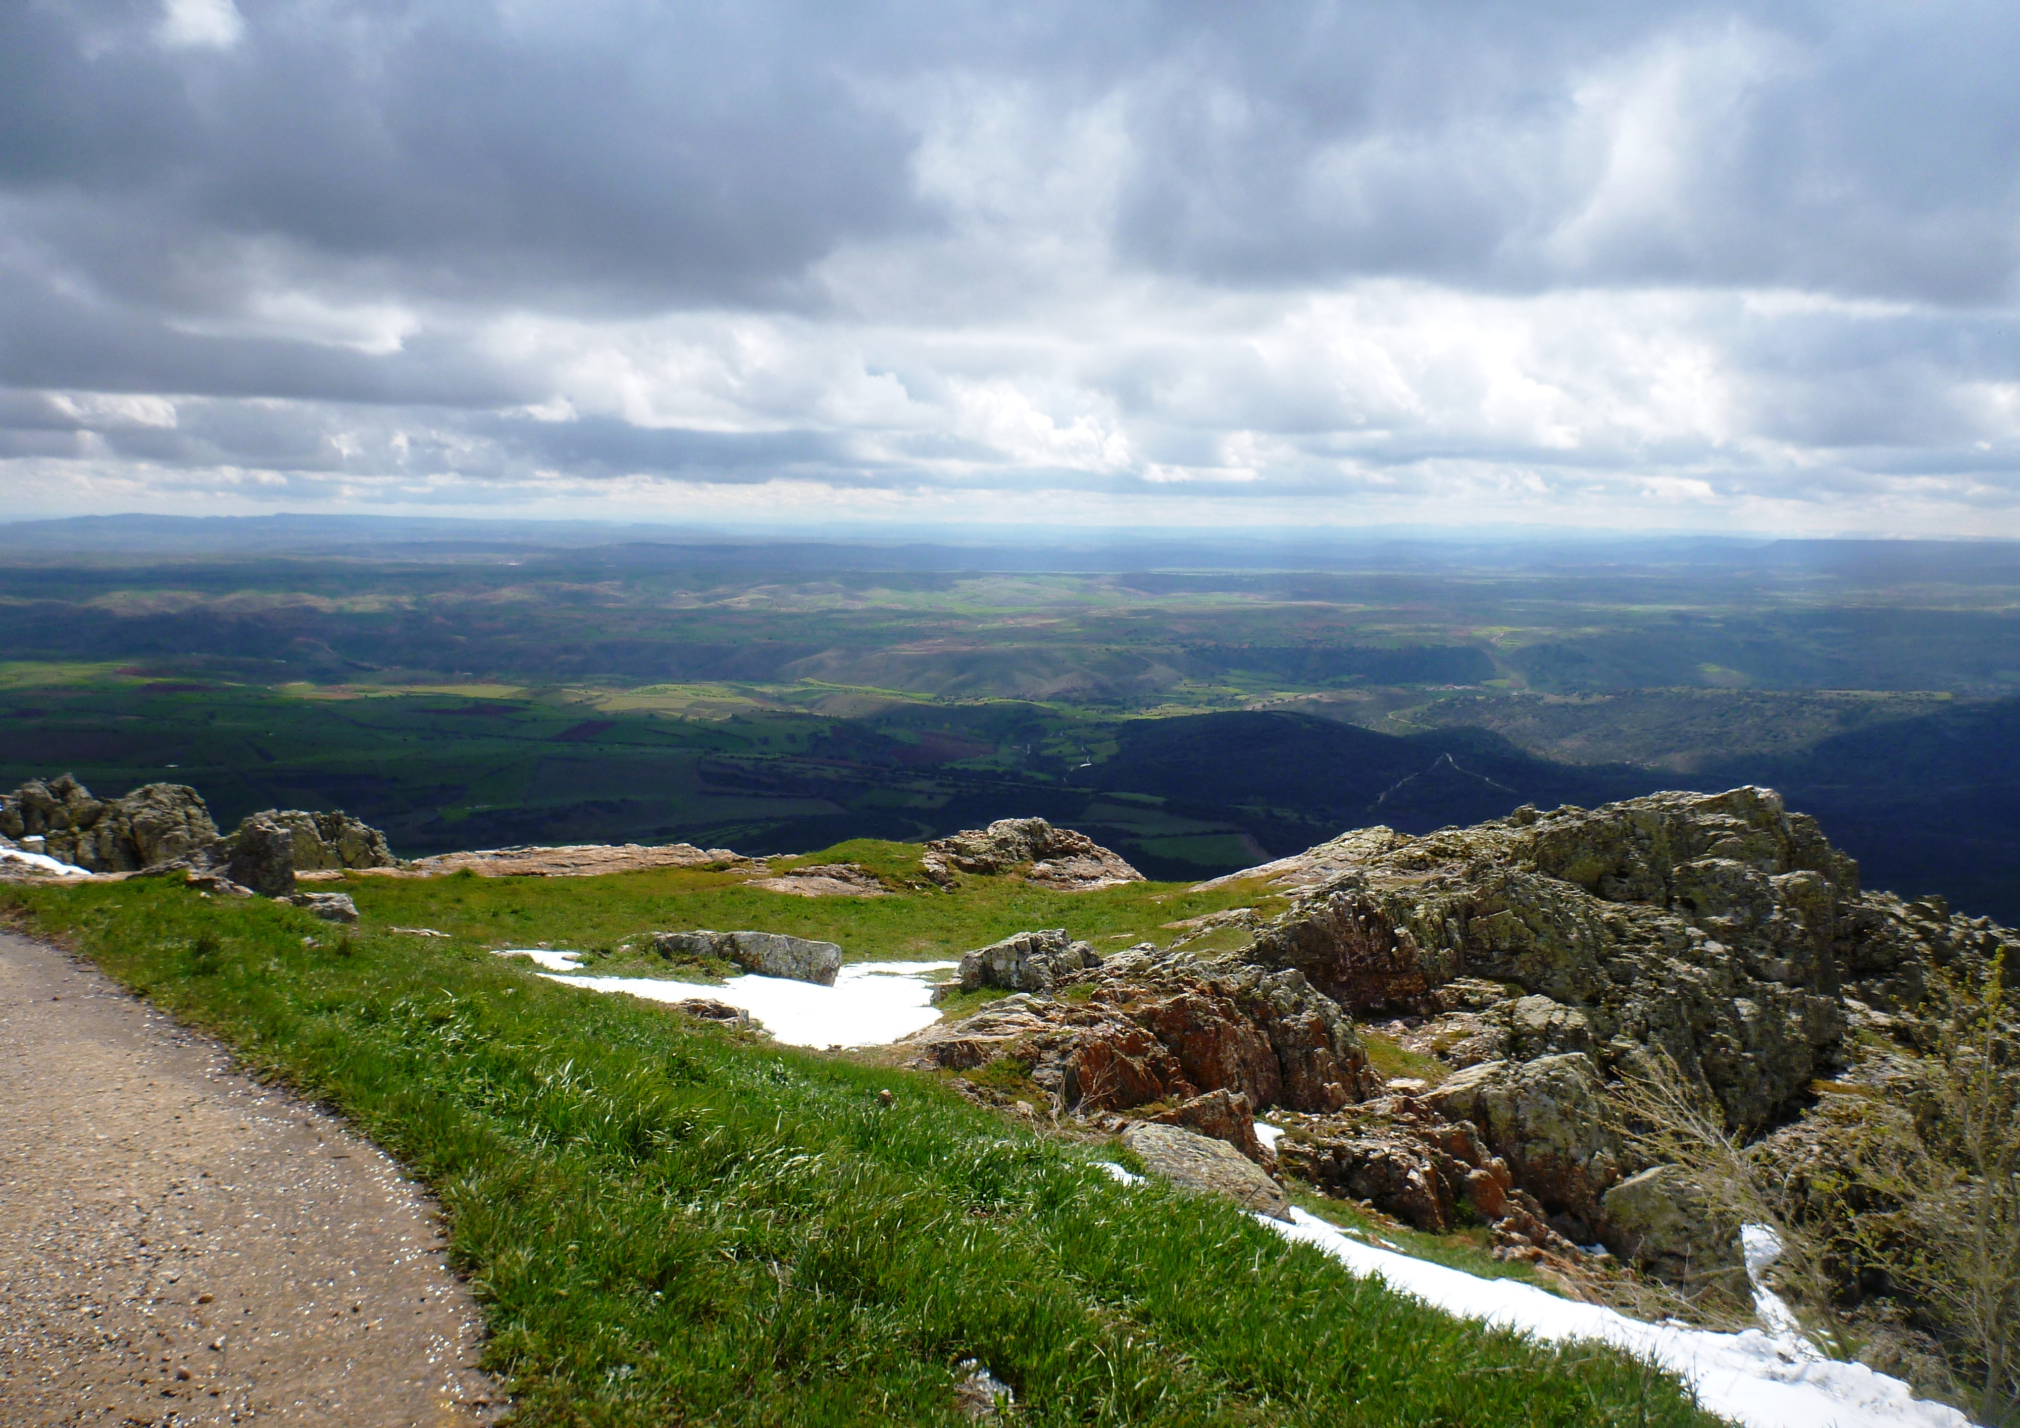
<path fill-rule="evenodd" d="M 2020 6 L 0 0 L 0 519 L 2020 535 Z"/>

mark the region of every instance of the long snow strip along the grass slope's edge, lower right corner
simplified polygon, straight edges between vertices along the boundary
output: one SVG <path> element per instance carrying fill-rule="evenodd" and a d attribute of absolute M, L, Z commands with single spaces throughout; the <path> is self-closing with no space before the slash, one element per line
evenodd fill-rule
<path fill-rule="evenodd" d="M 1287 1240 L 1315 1244 L 1355 1274 L 1380 1274 L 1390 1289 L 1434 1309 L 1543 1341 L 1594 1339 L 1677 1373 L 1713 1414 L 1745 1428 L 1972 1428 L 1955 1408 L 1915 1398 L 1901 1380 L 1864 1363 L 1836 1363 L 1796 1335 L 1713 1333 L 1642 1323 L 1600 1305 L 1557 1299 L 1509 1279 L 1475 1279 L 1361 1244 L 1291 1210 L 1291 1224 L 1256 1216 Z M 1749 1246 L 1751 1258 L 1751 1246 Z M 1780 1301 L 1776 1301 L 1780 1305 Z M 1782 1307 L 1786 1315 L 1788 1309 Z M 1790 1319 L 1794 1323 L 1794 1319 Z"/>

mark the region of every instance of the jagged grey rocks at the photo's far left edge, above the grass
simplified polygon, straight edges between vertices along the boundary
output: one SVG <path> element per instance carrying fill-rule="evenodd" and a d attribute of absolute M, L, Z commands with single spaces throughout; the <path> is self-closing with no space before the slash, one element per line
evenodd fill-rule
<path fill-rule="evenodd" d="M 0 834 L 42 838 L 34 848 L 91 873 L 135 873 L 210 846 L 216 824 L 194 788 L 145 784 L 99 800 L 73 776 L 28 780 L 0 794 Z"/>

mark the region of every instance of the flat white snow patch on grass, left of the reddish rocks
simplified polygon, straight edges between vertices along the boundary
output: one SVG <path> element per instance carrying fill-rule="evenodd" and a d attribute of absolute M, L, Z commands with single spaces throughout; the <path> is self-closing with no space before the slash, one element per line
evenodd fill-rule
<path fill-rule="evenodd" d="M 551 980 L 592 992 L 630 992 L 652 1002 L 685 1002 L 695 996 L 727 1002 L 755 1016 L 788 1046 L 883 1046 L 939 1020 L 939 1012 L 933 1010 L 933 984 L 925 974 L 957 965 L 962 963 L 856 961 L 834 974 L 832 988 L 755 974 L 729 978 L 723 986 L 665 978 L 556 976 Z"/>

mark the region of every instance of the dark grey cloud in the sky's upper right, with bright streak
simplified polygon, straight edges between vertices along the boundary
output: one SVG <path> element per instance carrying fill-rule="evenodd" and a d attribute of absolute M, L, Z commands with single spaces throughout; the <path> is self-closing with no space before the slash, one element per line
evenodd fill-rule
<path fill-rule="evenodd" d="M 1121 224 L 1143 261 L 1236 283 L 2012 295 L 2010 8 L 1267 14 L 1176 48 L 1149 87 Z M 1658 192 L 1604 210 L 1640 180 Z"/>

